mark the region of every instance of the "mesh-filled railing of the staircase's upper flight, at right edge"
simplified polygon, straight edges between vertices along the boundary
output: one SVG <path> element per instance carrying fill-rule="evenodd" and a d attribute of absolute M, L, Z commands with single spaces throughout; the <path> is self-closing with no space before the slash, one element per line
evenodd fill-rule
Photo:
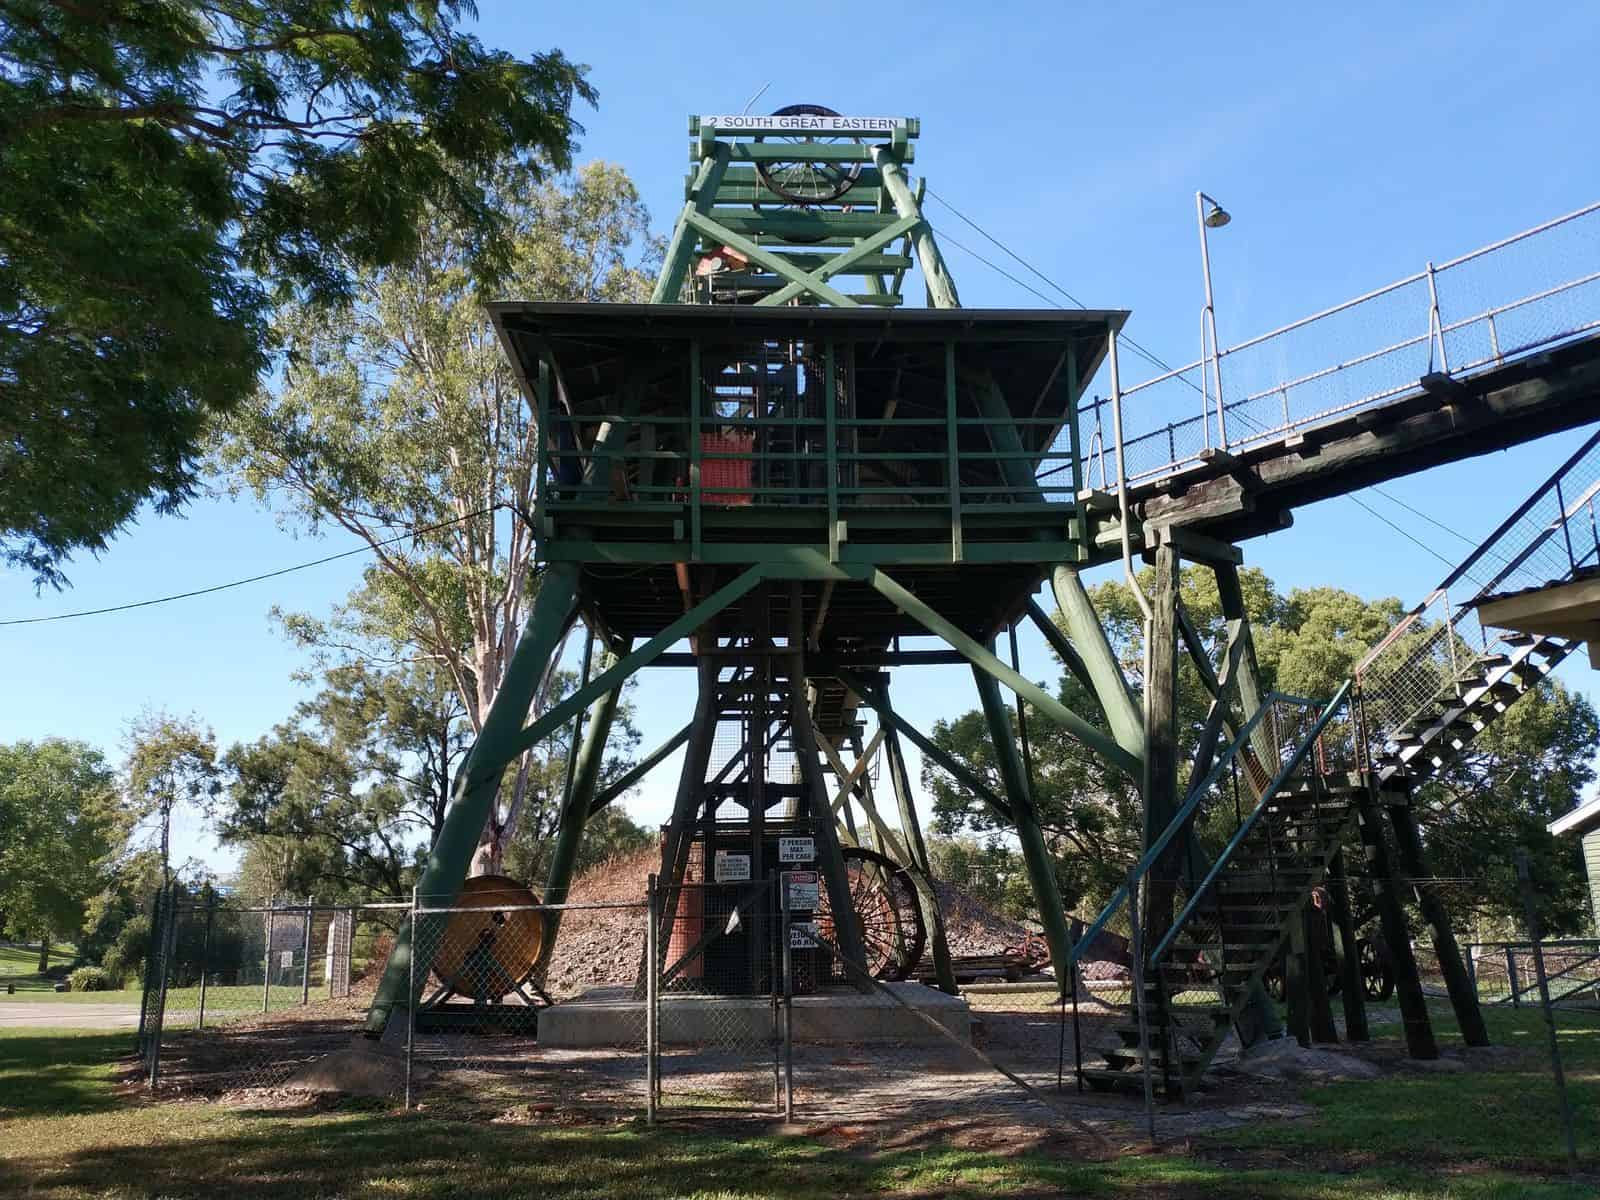
<path fill-rule="evenodd" d="M 1363 739 L 1373 750 L 1424 709 L 1475 686 L 1485 656 L 1515 656 L 1506 632 L 1485 627 L 1494 595 L 1600 570 L 1600 432 L 1589 437 L 1467 558 L 1405 614 L 1355 667 Z"/>

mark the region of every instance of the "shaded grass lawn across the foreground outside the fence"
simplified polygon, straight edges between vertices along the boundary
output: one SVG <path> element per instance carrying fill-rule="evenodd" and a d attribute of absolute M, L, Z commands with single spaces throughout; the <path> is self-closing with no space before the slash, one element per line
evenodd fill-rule
<path fill-rule="evenodd" d="M 1501 1043 L 1538 1048 L 1536 1014 L 1493 1014 Z M 1445 1022 L 1440 1034 L 1446 1035 Z M 1600 1021 L 1563 1035 L 1600 1162 Z M 128 1035 L 0 1030 L 0 1195 L 67 1197 L 797 1197 L 1059 1195 L 1232 1200 L 1578 1200 L 1549 1075 L 1493 1072 L 1312 1088 L 1318 1120 L 1262 1123 L 1160 1154 L 1083 1162 L 922 1146 L 837 1149 L 822 1133 L 560 1128 L 405 1114 L 373 1101 L 246 1112 L 147 1104 L 117 1090 Z"/>

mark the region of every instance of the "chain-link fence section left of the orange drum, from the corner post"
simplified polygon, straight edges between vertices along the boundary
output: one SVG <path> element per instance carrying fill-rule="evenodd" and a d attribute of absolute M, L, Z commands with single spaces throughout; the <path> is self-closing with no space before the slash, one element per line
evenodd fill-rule
<path fill-rule="evenodd" d="M 158 902 L 142 998 L 146 1078 L 170 1094 L 293 1085 L 360 1029 L 366 976 L 406 904 Z"/>

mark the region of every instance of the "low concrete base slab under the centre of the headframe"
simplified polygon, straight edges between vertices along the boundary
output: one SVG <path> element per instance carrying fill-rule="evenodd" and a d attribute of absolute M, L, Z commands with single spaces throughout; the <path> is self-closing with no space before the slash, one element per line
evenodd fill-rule
<path fill-rule="evenodd" d="M 944 1042 L 923 1018 L 962 1042 L 973 1040 L 966 1002 L 925 984 L 885 984 L 874 990 L 794 998 L 795 1042 Z M 906 1003 L 896 1003 L 904 1000 Z M 909 1008 L 907 1008 L 909 1006 Z M 555 1048 L 637 1045 L 645 1037 L 645 1003 L 627 987 L 594 987 L 578 1000 L 539 1013 L 539 1045 Z M 773 1002 L 747 995 L 661 997 L 661 1045 L 765 1042 L 773 1037 Z"/>

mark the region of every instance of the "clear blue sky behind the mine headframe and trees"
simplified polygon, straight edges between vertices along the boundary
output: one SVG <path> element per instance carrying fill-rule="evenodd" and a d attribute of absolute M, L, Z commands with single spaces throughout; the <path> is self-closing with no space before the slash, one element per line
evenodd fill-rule
<path fill-rule="evenodd" d="M 1224 346 L 1600 200 L 1592 154 L 1600 10 L 1590 5 L 694 5 L 482 3 L 480 35 L 552 46 L 590 66 L 598 109 L 579 160 L 629 170 L 661 232 L 682 203 L 686 117 L 790 102 L 923 122 L 915 171 L 934 192 L 1091 307 L 1126 307 L 1144 346 L 1198 354 L 1194 192 L 1232 211 L 1213 234 Z M 930 205 L 936 227 L 1022 274 Z M 1597 254 L 1590 240 L 1590 266 Z M 968 306 L 1034 296 L 947 245 Z M 1578 274 L 1576 270 L 1573 274 Z M 1029 282 L 1037 283 L 1032 277 Z M 1048 291 L 1048 290 L 1046 290 Z M 1595 314 L 1600 315 L 1600 314 Z M 1130 379 L 1146 368 L 1125 358 Z M 1597 414 L 1600 416 L 1600 414 Z M 1387 485 L 1464 538 L 1488 533 L 1576 435 Z M 1454 562 L 1467 544 L 1365 493 Z M 347 549 L 296 539 L 250 502 L 211 499 L 142 518 L 64 594 L 0 573 L 0 618 L 125 603 Z M 1349 499 L 1296 514 L 1246 562 L 1285 589 L 1338 584 L 1421 598 L 1445 565 Z M 360 558 L 213 597 L 54 624 L 0 627 L 10 686 L 0 738 L 83 738 L 120 754 L 142 707 L 195 712 L 229 744 L 266 733 L 301 694 L 267 610 L 325 613 Z M 1034 638 L 1024 656 L 1051 674 Z M 1581 659 L 1581 656 L 1578 656 Z M 1563 669 L 1590 691 L 1586 666 Z M 638 693 L 646 744 L 685 709 L 675 672 Z M 901 706 L 931 722 L 973 704 L 963 669 L 925 669 Z M 662 816 L 658 782 L 630 803 Z M 187 853 L 211 854 L 190 821 Z"/>

